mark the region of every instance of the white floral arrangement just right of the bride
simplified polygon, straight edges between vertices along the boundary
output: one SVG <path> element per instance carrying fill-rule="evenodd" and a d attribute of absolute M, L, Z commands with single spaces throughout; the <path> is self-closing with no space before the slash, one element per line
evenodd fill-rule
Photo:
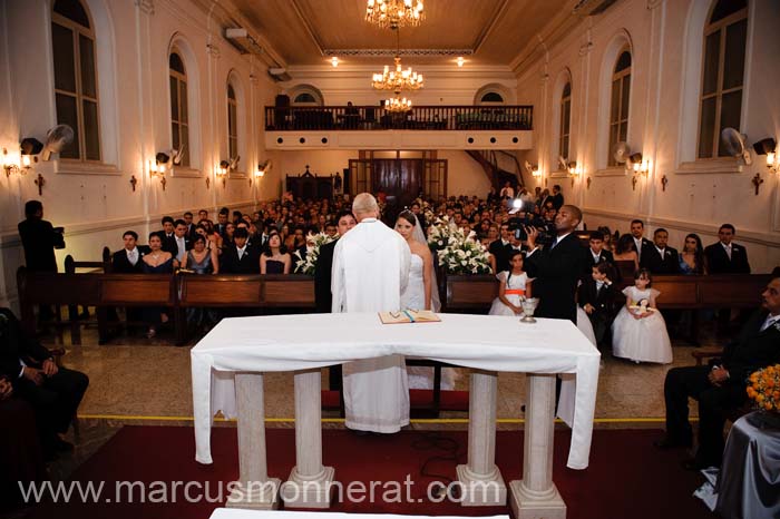
<path fill-rule="evenodd" d="M 485 245 L 464 229 L 450 226 L 449 219 L 437 218 L 428 229 L 428 246 L 448 274 L 490 274 L 490 261 Z"/>

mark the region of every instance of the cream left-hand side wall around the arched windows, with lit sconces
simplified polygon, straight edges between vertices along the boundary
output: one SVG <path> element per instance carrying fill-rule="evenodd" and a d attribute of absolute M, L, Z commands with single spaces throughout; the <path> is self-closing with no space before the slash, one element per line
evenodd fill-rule
<path fill-rule="evenodd" d="M 256 58 L 242 56 L 222 28 L 188 0 L 85 0 L 97 37 L 104 164 L 38 163 L 27 176 L 0 175 L 0 304 L 16 304 L 16 270 L 22 263 L 16 224 L 23 204 L 40 199 L 45 217 L 66 227 L 66 254 L 97 260 L 104 245 L 117 248 L 127 228 L 145 235 L 163 215 L 223 205 L 252 208 L 273 187 L 250 184 L 264 149 L 263 107 L 276 86 Z M 49 0 L 0 2 L 0 147 L 18 153 L 23 137 L 43 141 L 56 124 Z M 148 164 L 170 148 L 168 50 L 182 48 L 188 76 L 192 168 L 167 175 L 163 190 Z M 226 186 L 214 167 L 227 158 L 227 78 L 236 82 L 240 114 L 237 172 Z M 46 184 L 39 196 L 33 179 Z M 138 180 L 133 192 L 130 178 Z M 273 173 L 269 175 L 273 178 Z M 211 187 L 206 186 L 206 179 Z M 275 193 L 274 193 L 275 194 Z"/>

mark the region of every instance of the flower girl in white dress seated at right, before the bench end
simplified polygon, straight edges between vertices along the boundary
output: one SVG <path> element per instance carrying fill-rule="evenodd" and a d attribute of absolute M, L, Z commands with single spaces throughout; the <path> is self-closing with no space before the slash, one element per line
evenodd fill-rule
<path fill-rule="evenodd" d="M 651 288 L 650 271 L 642 268 L 634 274 L 634 286 L 623 288 L 625 306 L 612 324 L 612 354 L 640 362 L 672 362 L 672 344 L 666 323 L 655 307 L 661 294 Z"/>

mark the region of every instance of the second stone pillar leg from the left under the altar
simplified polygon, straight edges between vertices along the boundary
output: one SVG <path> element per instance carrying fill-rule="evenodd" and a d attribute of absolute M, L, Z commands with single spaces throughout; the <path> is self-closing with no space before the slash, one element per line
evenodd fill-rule
<path fill-rule="evenodd" d="M 320 369 L 295 373 L 295 467 L 282 484 L 286 507 L 330 508 L 333 467 L 322 466 Z"/>

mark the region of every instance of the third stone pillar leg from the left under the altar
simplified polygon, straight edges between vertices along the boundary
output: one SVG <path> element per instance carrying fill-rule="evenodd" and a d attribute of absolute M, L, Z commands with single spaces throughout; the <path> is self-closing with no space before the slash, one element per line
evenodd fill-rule
<path fill-rule="evenodd" d="M 496 396 L 498 374 L 471 372 L 469 390 L 468 464 L 456 469 L 464 507 L 501 506 L 507 488 L 496 467 Z"/>

